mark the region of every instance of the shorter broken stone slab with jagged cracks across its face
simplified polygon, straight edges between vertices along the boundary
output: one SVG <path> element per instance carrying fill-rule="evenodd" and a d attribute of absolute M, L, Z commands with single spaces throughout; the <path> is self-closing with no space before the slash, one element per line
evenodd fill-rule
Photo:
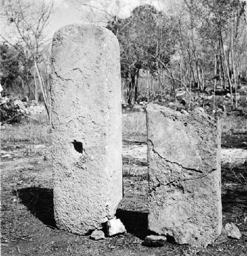
<path fill-rule="evenodd" d="M 204 113 L 146 111 L 149 230 L 206 246 L 222 228 L 219 125 Z"/>

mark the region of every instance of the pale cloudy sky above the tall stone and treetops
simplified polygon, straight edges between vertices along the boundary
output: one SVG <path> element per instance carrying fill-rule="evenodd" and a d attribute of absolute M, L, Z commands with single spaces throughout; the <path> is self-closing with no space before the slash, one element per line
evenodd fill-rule
<path fill-rule="evenodd" d="M 140 4 L 152 4 L 158 10 L 167 11 L 172 6 L 179 5 L 181 0 L 21 0 L 24 3 L 46 4 L 53 2 L 53 12 L 50 15 L 50 25 L 47 28 L 49 38 L 52 38 L 54 32 L 60 27 L 73 23 L 87 23 L 94 21 L 96 24 L 105 25 L 107 19 L 102 17 L 100 10 L 105 10 L 110 15 L 118 13 L 120 18 L 130 15 L 131 10 Z M 87 6 L 85 6 L 87 5 Z M 93 14 L 88 6 L 93 6 Z M 176 6 L 177 7 L 177 6 Z M 104 19 L 105 22 L 102 22 Z M 4 36 L 8 35 L 8 28 L 3 27 L 0 22 L 0 33 Z"/>

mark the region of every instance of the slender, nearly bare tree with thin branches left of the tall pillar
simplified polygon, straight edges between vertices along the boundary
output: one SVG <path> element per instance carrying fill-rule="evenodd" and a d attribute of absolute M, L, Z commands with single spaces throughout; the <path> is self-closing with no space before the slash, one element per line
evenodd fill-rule
<path fill-rule="evenodd" d="M 8 37 L 0 34 L 4 42 L 12 45 L 20 51 L 21 45 L 25 47 L 27 60 L 31 59 L 33 63 L 32 75 L 35 85 L 35 100 L 38 101 L 38 84 L 41 87 L 44 105 L 50 120 L 50 85 L 48 80 L 44 79 L 41 72 L 41 64 L 44 61 L 44 53 L 48 47 L 49 38 L 45 31 L 49 24 L 49 17 L 53 4 L 48 5 L 43 2 L 35 5 L 26 3 L 23 0 L 5 0 L 2 1 L 1 15 L 4 17 L 5 25 L 8 26 Z M 11 38 L 16 39 L 18 43 L 12 43 Z"/>

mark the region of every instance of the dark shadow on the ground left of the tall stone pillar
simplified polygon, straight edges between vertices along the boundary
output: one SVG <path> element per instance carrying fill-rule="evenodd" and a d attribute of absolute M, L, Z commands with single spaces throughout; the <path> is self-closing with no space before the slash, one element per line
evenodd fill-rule
<path fill-rule="evenodd" d="M 53 212 L 53 189 L 28 187 L 14 191 L 20 202 L 49 227 L 56 227 Z"/>

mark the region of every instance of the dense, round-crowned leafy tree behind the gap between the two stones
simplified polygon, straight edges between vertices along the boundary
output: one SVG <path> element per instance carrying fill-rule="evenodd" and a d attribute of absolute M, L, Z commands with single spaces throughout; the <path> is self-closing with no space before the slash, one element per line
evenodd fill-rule
<path fill-rule="evenodd" d="M 127 101 L 137 101 L 140 69 L 153 76 L 160 73 L 161 63 L 168 64 L 175 52 L 175 29 L 164 13 L 146 4 L 134 8 L 131 16 L 113 19 L 107 28 L 118 37 L 121 48 L 121 74 L 128 82 Z M 158 61 L 159 60 L 159 61 Z"/>

